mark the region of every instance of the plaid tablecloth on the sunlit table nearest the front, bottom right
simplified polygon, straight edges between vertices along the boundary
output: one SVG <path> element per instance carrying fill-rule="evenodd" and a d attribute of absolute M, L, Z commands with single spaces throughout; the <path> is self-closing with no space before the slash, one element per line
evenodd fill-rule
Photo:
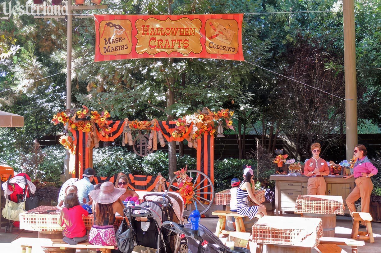
<path fill-rule="evenodd" d="M 253 242 L 315 247 L 323 236 L 322 219 L 264 216 L 253 225 Z"/>

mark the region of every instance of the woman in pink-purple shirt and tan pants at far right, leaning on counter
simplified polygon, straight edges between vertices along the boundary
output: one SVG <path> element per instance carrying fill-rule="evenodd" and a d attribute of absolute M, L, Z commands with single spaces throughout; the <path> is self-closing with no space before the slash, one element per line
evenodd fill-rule
<path fill-rule="evenodd" d="M 351 215 L 353 212 L 356 212 L 355 201 L 359 198 L 361 198 L 361 212 L 369 212 L 370 194 L 373 190 L 373 183 L 370 177 L 376 175 L 378 170 L 366 155 L 367 148 L 362 144 L 356 145 L 354 157 L 357 161 L 353 167 L 353 174 L 351 176 L 344 176 L 346 179 L 355 177 L 356 187 L 345 200 Z"/>

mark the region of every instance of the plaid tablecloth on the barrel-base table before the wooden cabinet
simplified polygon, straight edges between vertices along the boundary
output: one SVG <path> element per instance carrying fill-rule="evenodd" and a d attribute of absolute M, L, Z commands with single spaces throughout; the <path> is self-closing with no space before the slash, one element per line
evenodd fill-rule
<path fill-rule="evenodd" d="M 299 195 L 295 213 L 344 214 L 342 196 Z"/>

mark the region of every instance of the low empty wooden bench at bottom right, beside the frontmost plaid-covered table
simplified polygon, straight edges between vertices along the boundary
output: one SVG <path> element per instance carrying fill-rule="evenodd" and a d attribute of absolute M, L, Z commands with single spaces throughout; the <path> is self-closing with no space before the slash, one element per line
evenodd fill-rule
<path fill-rule="evenodd" d="M 354 239 L 339 238 L 339 237 L 322 237 L 320 238 L 320 244 L 315 247 L 319 253 L 346 253 L 338 245 L 348 245 L 352 248 L 352 253 L 357 253 L 357 247 L 364 246 L 363 241 Z"/>

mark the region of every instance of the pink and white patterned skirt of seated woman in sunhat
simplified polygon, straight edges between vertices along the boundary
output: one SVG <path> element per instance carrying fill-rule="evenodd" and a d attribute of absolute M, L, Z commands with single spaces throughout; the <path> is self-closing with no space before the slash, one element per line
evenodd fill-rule
<path fill-rule="evenodd" d="M 89 242 L 93 245 L 115 246 L 117 248 L 114 226 L 93 225 L 90 229 Z"/>

